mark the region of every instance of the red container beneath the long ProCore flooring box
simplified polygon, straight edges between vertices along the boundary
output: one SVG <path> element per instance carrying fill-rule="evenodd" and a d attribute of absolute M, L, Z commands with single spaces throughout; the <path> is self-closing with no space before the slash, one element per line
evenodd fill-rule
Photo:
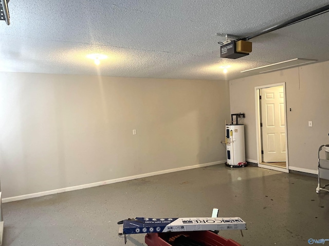
<path fill-rule="evenodd" d="M 240 243 L 232 239 L 221 237 L 211 231 L 148 233 L 145 236 L 145 243 L 148 244 L 148 246 L 171 246 L 166 240 L 179 235 L 186 235 L 207 246 L 241 246 Z"/>

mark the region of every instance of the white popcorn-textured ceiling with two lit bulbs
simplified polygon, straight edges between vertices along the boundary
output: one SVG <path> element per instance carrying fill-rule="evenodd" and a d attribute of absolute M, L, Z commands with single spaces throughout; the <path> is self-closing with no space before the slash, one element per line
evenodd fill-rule
<path fill-rule="evenodd" d="M 248 36 L 327 0 L 11 0 L 0 22 L 0 71 L 234 79 L 293 58 L 329 60 L 329 13 L 251 39 L 253 51 L 220 57 L 216 33 Z M 109 56 L 99 66 L 90 53 Z M 227 74 L 220 66 L 231 65 Z"/>

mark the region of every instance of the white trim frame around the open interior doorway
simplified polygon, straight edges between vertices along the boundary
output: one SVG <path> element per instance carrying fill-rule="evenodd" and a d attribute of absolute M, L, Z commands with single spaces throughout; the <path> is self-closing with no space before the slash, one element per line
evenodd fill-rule
<path fill-rule="evenodd" d="M 273 167 L 270 165 L 264 165 L 262 163 L 262 139 L 261 139 L 261 119 L 260 119 L 260 101 L 259 101 L 259 95 L 260 90 L 264 88 L 270 88 L 270 87 L 277 87 L 277 86 L 283 86 L 283 95 L 284 95 L 284 122 L 285 122 L 285 138 L 286 138 L 286 168 L 278 168 Z M 289 162 L 288 162 L 288 133 L 287 133 L 287 104 L 286 104 L 286 83 L 277 83 L 277 84 L 270 84 L 270 85 L 264 85 L 264 86 L 257 86 L 255 87 L 255 110 L 256 110 L 256 136 L 257 136 L 257 164 L 260 168 L 266 168 L 271 170 L 276 170 L 280 172 L 289 172 Z"/>

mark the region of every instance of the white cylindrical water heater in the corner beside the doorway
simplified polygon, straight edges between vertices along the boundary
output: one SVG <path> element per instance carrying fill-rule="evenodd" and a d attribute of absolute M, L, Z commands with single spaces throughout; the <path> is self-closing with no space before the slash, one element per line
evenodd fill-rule
<path fill-rule="evenodd" d="M 226 125 L 226 166 L 245 167 L 245 126 L 244 125 Z"/>

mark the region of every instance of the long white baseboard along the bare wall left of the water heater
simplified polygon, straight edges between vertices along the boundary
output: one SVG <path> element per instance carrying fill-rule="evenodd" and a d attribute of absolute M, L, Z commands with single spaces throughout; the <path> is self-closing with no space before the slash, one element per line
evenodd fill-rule
<path fill-rule="evenodd" d="M 87 183 L 87 184 L 81 185 L 81 186 L 73 186 L 73 187 L 61 188 L 61 189 L 57 189 L 57 190 L 43 191 L 43 192 L 32 193 L 32 194 L 27 194 L 27 195 L 22 195 L 22 196 L 7 197 L 7 198 L 3 198 L 2 202 L 18 201 L 18 200 L 52 195 L 52 194 L 57 194 L 57 193 L 62 193 L 62 192 L 67 192 L 67 191 L 75 191 L 75 190 L 96 187 L 96 186 L 104 186 L 104 185 L 108 185 L 109 183 L 117 183 L 117 182 L 137 179 L 137 178 L 144 178 L 144 177 L 150 177 L 150 176 L 155 176 L 155 175 L 160 175 L 160 174 L 173 173 L 173 172 L 184 171 L 184 170 L 189 170 L 189 169 L 194 169 L 194 168 L 203 168 L 203 167 L 207 167 L 207 166 L 222 164 L 225 162 L 226 162 L 226 160 L 220 160 L 220 161 L 208 162 L 208 163 L 203 163 L 203 164 L 198 164 L 198 165 L 193 165 L 193 166 L 167 169 L 167 170 L 162 170 L 162 171 L 157 171 L 157 172 L 152 172 L 152 173 L 138 174 L 138 175 L 129 176 L 129 177 L 115 178 L 115 179 L 110 179 L 110 180 L 105 180 L 105 181 L 100 181 L 100 182 L 95 182 L 95 183 Z"/>

